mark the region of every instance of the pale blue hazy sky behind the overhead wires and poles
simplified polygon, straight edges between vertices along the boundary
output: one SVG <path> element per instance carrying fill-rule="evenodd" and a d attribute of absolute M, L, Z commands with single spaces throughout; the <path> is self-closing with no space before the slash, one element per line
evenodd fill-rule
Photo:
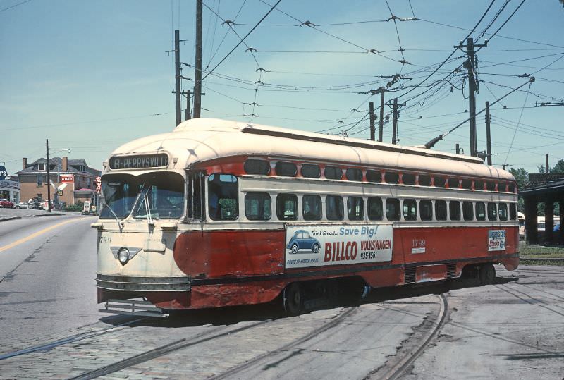
<path fill-rule="evenodd" d="M 204 0 L 202 117 L 368 139 L 369 102 L 376 116 L 380 105 L 371 90 L 396 75 L 385 99 L 405 103 L 400 145 L 422 145 L 469 117 L 465 51 L 455 45 L 470 34 L 477 44 L 489 39 L 477 52 L 476 103 L 482 111 L 499 99 L 493 164 L 535 173 L 546 154 L 550 166 L 564 158 L 564 106 L 539 106 L 564 103 L 561 1 L 281 0 L 271 10 L 275 2 Z M 46 139 L 51 157 L 101 169 L 123 143 L 173 130 L 176 29 L 185 40 L 182 90 L 191 90 L 195 0 L 0 0 L 8 173 L 23 157 L 44 157 Z M 384 114 L 391 120 L 390 106 Z M 485 130 L 480 114 L 479 151 Z M 457 143 L 470 154 L 468 122 L 433 149 L 454 152 Z"/>

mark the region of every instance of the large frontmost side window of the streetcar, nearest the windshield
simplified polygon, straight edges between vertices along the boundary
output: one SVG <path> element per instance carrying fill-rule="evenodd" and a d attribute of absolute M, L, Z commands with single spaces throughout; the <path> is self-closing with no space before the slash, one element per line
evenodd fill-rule
<path fill-rule="evenodd" d="M 207 178 L 208 213 L 214 220 L 235 220 L 239 216 L 238 182 L 232 174 L 210 174 Z"/>

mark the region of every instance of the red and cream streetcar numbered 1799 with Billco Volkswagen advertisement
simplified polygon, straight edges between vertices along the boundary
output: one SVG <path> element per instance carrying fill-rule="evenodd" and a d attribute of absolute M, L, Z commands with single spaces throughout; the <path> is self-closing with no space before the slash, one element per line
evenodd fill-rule
<path fill-rule="evenodd" d="M 519 263 L 515 178 L 420 147 L 197 118 L 118 147 L 102 195 L 106 312 L 280 300 L 298 314 Z"/>

